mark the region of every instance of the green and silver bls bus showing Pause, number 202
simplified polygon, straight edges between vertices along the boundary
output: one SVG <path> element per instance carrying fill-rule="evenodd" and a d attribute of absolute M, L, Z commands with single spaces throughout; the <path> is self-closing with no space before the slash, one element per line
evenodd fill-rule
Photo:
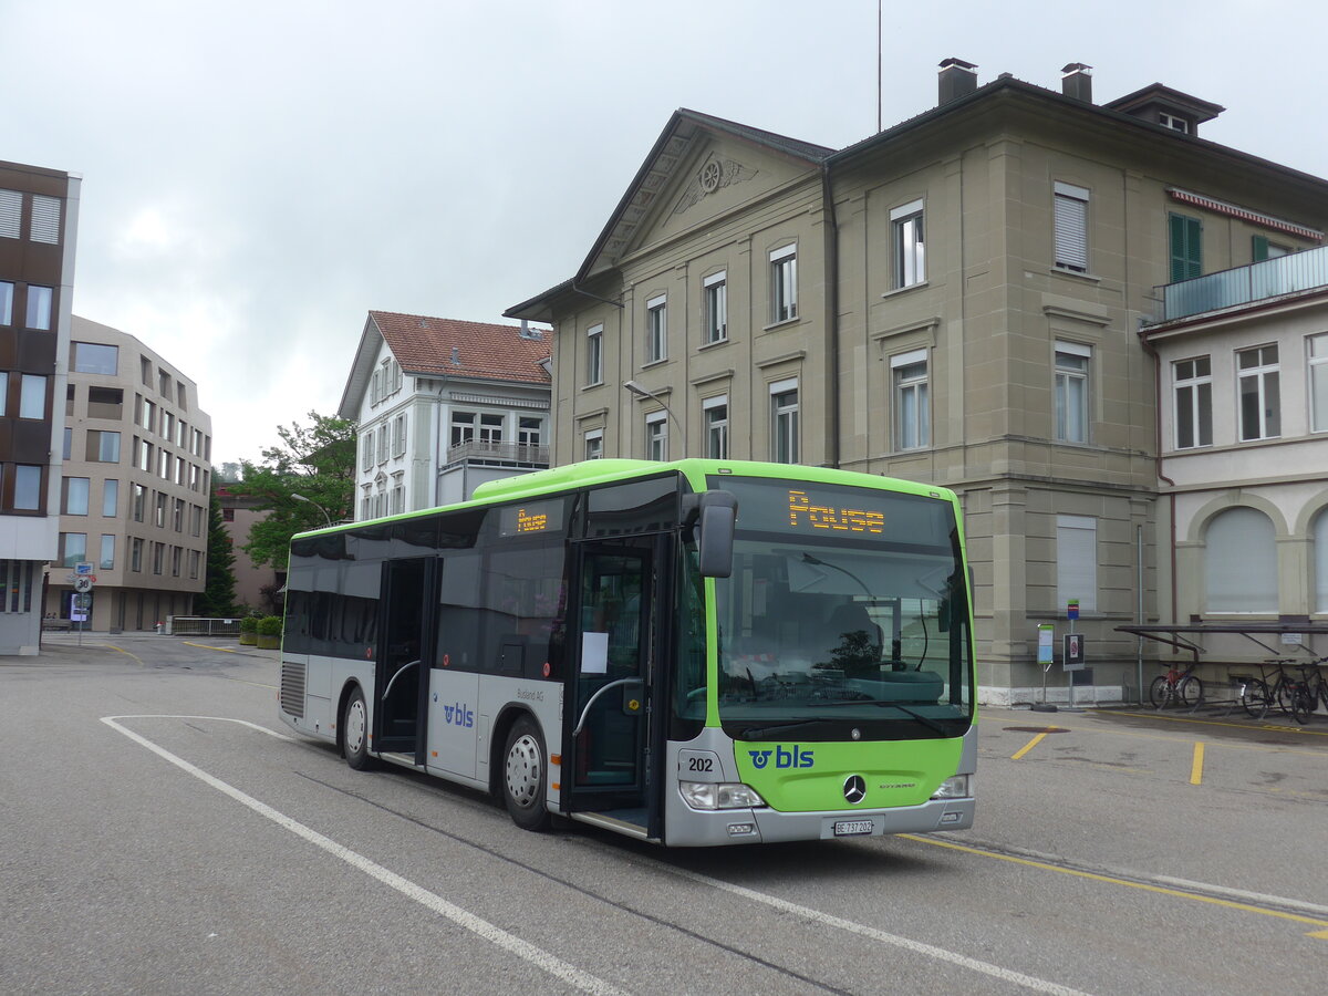
<path fill-rule="evenodd" d="M 977 761 L 954 493 L 599 459 L 293 538 L 282 720 L 668 846 L 959 830 Z"/>

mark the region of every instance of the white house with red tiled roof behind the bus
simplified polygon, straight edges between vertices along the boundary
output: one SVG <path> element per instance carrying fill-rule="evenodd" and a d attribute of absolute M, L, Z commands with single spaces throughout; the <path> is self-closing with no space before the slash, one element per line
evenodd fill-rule
<path fill-rule="evenodd" d="M 359 426 L 356 519 L 547 467 L 548 397 L 538 329 L 371 311 L 337 410 Z"/>

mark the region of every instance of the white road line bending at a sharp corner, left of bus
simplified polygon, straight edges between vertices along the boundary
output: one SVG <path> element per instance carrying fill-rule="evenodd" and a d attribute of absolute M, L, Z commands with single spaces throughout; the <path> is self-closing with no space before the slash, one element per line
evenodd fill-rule
<path fill-rule="evenodd" d="M 130 740 L 133 740 L 135 744 L 139 744 L 139 745 L 147 748 L 149 750 L 151 750 L 158 757 L 162 757 L 162 758 L 170 761 L 173 765 L 175 765 L 181 770 L 187 772 L 189 774 L 194 776 L 195 778 L 198 778 L 203 784 L 210 785 L 211 788 L 216 789 L 223 795 L 230 795 L 236 802 L 239 802 L 239 803 L 242 803 L 244 806 L 248 806 L 251 810 L 254 810 L 255 813 L 258 813 L 260 817 L 271 819 L 278 826 L 280 826 L 280 827 L 283 827 L 286 830 L 290 830 L 292 834 L 295 834 L 296 837 L 300 837 L 300 838 L 308 841 L 315 847 L 320 847 L 321 850 L 327 851 L 328 854 L 331 854 L 331 855 L 333 855 L 336 858 L 340 858 L 341 861 L 344 861 L 351 867 L 357 869 L 359 871 L 363 871 L 365 875 L 369 875 L 371 878 L 376 878 L 382 884 L 389 886 L 390 888 L 397 890 L 398 892 L 401 892 L 401 895 L 406 896 L 408 899 L 413 899 L 414 902 L 420 903 L 421 906 L 424 906 L 428 910 L 432 910 L 433 912 L 438 914 L 440 916 L 445 916 L 446 919 L 449 919 L 453 923 L 456 923 L 458 927 L 462 927 L 462 928 L 470 931 L 471 934 L 474 934 L 474 935 L 477 935 L 477 936 L 487 940 L 490 944 L 494 944 L 495 947 L 499 947 L 503 951 L 506 951 L 506 952 L 509 952 L 511 955 L 515 955 L 517 957 L 521 957 L 521 959 L 523 959 L 526 961 L 530 961 L 531 964 L 537 965 L 538 968 L 542 968 L 544 972 L 548 972 L 548 975 L 554 976 L 555 979 L 559 979 L 560 981 L 564 981 L 568 985 L 574 985 L 578 989 L 580 989 L 582 992 L 595 993 L 596 996 L 627 996 L 622 989 L 616 988 L 615 985 L 611 985 L 610 983 L 604 981 L 603 979 L 599 979 L 598 976 L 590 975 L 588 972 L 583 972 L 579 968 L 576 968 L 575 965 L 571 965 L 571 964 L 563 961 L 562 959 L 555 957 L 554 955 L 550 955 L 543 948 L 535 947 L 534 944 L 531 944 L 529 942 L 525 942 L 521 938 L 517 938 L 517 936 L 509 934 L 507 931 L 502 930 L 501 927 L 495 927 L 494 924 L 489 923 L 487 920 L 483 920 L 479 916 L 475 916 L 474 914 L 462 910 L 459 906 L 456 906 L 454 903 L 449 903 L 442 896 L 440 896 L 440 895 L 437 895 L 434 892 L 430 892 L 429 890 L 426 890 L 426 888 L 424 888 L 421 886 L 417 886 L 414 882 L 410 882 L 409 879 L 405 879 L 401 875 L 397 875 L 394 871 L 389 871 L 388 869 L 382 867 L 381 865 L 378 865 L 378 863 L 376 863 L 373 861 L 369 861 L 363 854 L 357 854 L 356 851 L 352 851 L 349 847 L 345 847 L 345 846 L 343 846 L 340 843 L 337 843 L 336 841 L 333 841 L 333 839 L 331 839 L 328 837 L 324 837 L 323 834 L 317 833 L 316 830 L 309 829 L 308 826 L 305 826 L 304 823 L 300 823 L 296 819 L 292 819 L 291 817 L 286 815 L 284 813 L 279 813 L 278 810 L 272 809 L 267 803 L 259 802 L 252 795 L 244 794 L 243 791 L 240 791 L 235 786 L 228 785 L 227 782 L 223 782 L 220 778 L 216 778 L 216 777 L 208 774 L 207 772 L 205 772 L 201 768 L 197 768 L 195 765 L 191 765 L 185 758 L 177 757 L 171 752 L 166 750 L 165 748 L 158 746 L 157 744 L 154 744 L 153 741 L 147 740 L 146 737 L 141 737 L 139 734 L 134 733 L 131 729 L 127 729 L 127 728 L 122 726 L 121 724 L 118 724 L 116 721 L 116 720 L 127 720 L 127 718 L 201 718 L 201 720 L 216 720 L 216 718 L 222 718 L 222 717 L 219 717 L 219 716 L 193 716 L 193 717 L 183 717 L 183 716 L 174 716 L 174 717 L 161 717 L 161 716 L 154 716 L 154 717 L 146 717 L 146 716 L 102 716 L 101 721 L 105 722 L 112 729 L 114 729 L 114 730 L 117 730 L 120 733 L 124 733 L 126 737 L 129 737 Z M 262 730 L 263 733 L 268 733 L 268 734 L 271 734 L 274 737 L 282 737 L 283 740 L 291 740 L 291 737 L 284 737 L 284 734 L 280 734 L 280 733 L 272 733 L 272 730 L 264 729 L 264 728 L 258 726 L 258 725 L 255 725 L 252 722 L 244 722 L 244 720 L 230 720 L 230 722 L 240 722 L 240 724 L 243 724 L 246 726 L 252 726 L 254 729 Z"/>

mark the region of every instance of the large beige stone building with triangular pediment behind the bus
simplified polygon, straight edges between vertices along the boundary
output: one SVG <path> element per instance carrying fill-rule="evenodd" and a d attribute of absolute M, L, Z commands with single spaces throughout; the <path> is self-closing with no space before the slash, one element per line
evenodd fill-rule
<path fill-rule="evenodd" d="M 1082 64 L 1046 89 L 946 60 L 938 97 L 841 150 L 675 113 L 575 276 L 506 312 L 555 327 L 554 462 L 952 487 L 983 699 L 1031 699 L 1072 599 L 1076 697 L 1133 695 L 1116 627 L 1171 611 L 1139 327 L 1162 284 L 1319 246 L 1328 182 L 1202 138 L 1223 108 L 1161 84 L 1097 104 Z"/>

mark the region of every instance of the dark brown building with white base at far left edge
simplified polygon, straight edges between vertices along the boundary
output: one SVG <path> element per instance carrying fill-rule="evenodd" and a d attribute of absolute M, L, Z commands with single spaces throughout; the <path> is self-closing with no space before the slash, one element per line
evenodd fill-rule
<path fill-rule="evenodd" d="M 56 556 L 78 177 L 0 162 L 0 655 L 37 653 Z"/>

